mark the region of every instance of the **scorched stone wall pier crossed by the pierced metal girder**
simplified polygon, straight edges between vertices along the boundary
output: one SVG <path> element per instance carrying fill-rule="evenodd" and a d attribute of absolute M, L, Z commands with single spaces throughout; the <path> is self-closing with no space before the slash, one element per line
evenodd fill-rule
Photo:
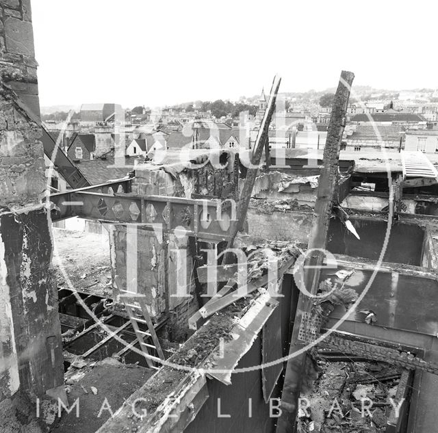
<path fill-rule="evenodd" d="M 185 196 L 179 178 L 151 164 L 136 169 L 132 192 L 139 196 Z M 110 239 L 113 274 L 122 286 L 118 289 L 126 287 L 145 296 L 156 321 L 170 312 L 181 326 L 187 326 L 189 305 L 196 304 L 188 238 L 163 233 L 161 226 L 153 231 L 141 226 L 113 226 Z"/>

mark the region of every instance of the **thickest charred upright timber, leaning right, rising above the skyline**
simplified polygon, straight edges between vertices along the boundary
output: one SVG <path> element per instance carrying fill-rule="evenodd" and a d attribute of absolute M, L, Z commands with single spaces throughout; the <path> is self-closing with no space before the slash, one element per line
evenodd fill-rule
<path fill-rule="evenodd" d="M 337 173 L 339 163 L 339 150 L 344 133 L 346 111 L 350 88 L 355 75 L 348 71 L 342 71 L 339 85 L 335 94 L 333 110 L 331 113 L 329 129 L 327 131 L 326 145 L 324 147 L 323 166 L 321 168 L 320 181 L 315 202 L 315 220 L 309 236 L 309 248 L 311 256 L 305 261 L 304 284 L 307 291 L 314 295 L 318 289 L 320 266 L 324 259 L 323 250 L 326 247 L 326 237 L 329 229 L 329 220 L 332 213 L 333 196 L 337 185 Z M 309 270 L 311 267 L 311 270 Z M 289 360 L 287 361 L 285 382 L 281 396 L 281 416 L 279 417 L 276 433 L 292 433 L 296 430 L 296 415 L 298 412 L 298 398 L 300 397 L 301 381 L 304 373 L 306 353 L 294 356 L 295 352 L 302 350 L 306 343 L 298 341 L 300 324 L 305 313 L 311 311 L 311 298 L 300 293 L 294 330 L 292 332 Z"/>

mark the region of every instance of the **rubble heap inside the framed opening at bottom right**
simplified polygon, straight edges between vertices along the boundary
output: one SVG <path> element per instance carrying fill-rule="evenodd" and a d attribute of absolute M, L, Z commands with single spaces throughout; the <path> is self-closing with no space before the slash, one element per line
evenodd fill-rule
<path fill-rule="evenodd" d="M 381 433 L 401 371 L 385 363 L 318 361 L 313 391 L 300 399 L 300 433 Z"/>

